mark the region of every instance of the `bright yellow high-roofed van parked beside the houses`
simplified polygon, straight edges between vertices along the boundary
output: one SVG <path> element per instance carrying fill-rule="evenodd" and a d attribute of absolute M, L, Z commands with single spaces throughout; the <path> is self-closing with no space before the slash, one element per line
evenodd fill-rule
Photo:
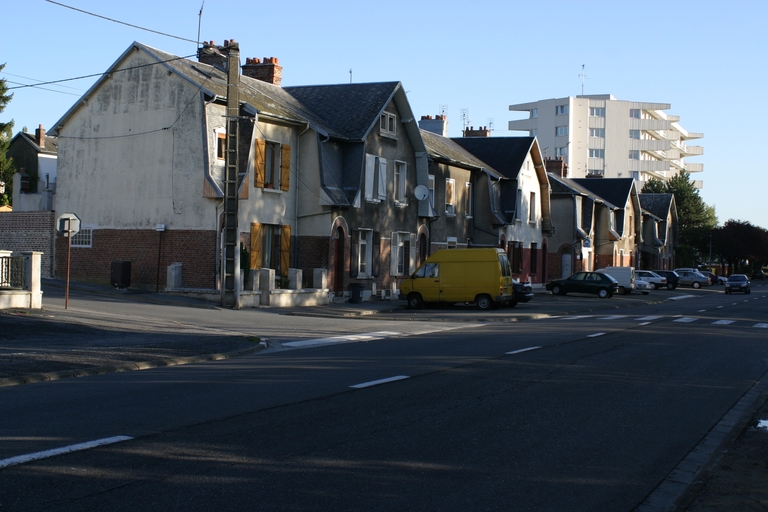
<path fill-rule="evenodd" d="M 400 284 L 409 308 L 425 303 L 474 302 L 479 309 L 514 306 L 512 269 L 502 249 L 441 249 Z"/>

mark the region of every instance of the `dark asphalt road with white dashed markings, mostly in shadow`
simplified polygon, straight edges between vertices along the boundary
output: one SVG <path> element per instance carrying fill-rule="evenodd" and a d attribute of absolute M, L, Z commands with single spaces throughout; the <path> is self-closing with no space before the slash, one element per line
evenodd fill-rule
<path fill-rule="evenodd" d="M 2 510 L 662 510 L 669 475 L 765 382 L 768 302 L 659 294 L 679 300 L 551 297 L 517 323 L 169 313 L 238 333 L 259 319 L 275 344 L 0 388 L 0 460 L 131 438 L 0 469 Z M 127 323 L 159 327 L 133 307 Z"/>

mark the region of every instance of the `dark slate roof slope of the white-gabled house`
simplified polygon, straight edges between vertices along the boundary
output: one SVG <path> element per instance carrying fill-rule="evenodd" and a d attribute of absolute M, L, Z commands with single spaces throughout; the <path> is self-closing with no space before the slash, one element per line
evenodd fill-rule
<path fill-rule="evenodd" d="M 455 137 L 454 142 L 510 179 L 517 179 L 535 137 Z"/>

